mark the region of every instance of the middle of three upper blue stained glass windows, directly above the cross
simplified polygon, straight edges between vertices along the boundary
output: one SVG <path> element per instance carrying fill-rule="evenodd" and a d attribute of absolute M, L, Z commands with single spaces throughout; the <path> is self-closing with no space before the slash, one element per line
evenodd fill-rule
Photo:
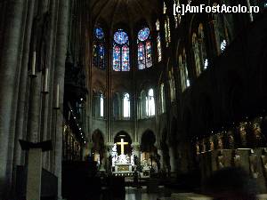
<path fill-rule="evenodd" d="M 122 29 L 118 29 L 114 34 L 113 41 L 113 70 L 130 70 L 130 50 L 128 35 Z"/>

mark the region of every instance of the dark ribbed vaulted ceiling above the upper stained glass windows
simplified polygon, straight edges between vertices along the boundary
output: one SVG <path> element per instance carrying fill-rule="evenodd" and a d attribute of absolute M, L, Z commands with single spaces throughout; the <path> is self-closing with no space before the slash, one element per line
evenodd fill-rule
<path fill-rule="evenodd" d="M 90 11 L 94 22 L 104 20 L 109 28 L 117 24 L 134 28 L 141 20 L 146 20 L 151 27 L 161 11 L 161 4 L 160 0 L 92 0 Z"/>

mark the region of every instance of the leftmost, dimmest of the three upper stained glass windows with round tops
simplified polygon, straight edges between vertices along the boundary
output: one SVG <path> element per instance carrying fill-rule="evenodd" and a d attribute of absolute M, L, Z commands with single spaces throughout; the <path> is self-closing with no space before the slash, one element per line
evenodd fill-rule
<path fill-rule="evenodd" d="M 96 68 L 105 69 L 105 35 L 100 27 L 93 29 L 93 66 Z"/>

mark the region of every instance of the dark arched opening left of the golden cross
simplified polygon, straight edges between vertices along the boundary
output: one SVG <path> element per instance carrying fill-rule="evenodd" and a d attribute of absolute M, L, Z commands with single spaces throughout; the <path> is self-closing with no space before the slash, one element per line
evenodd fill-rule
<path fill-rule="evenodd" d="M 93 156 L 93 161 L 97 162 L 98 164 L 101 164 L 101 161 L 104 157 L 105 145 L 103 134 L 99 129 L 93 132 L 92 140 L 93 148 L 91 152 Z"/>

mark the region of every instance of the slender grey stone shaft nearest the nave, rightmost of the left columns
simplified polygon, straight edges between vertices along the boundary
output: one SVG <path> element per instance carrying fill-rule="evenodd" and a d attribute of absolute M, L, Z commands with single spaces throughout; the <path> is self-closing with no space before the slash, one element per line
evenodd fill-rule
<path fill-rule="evenodd" d="M 58 23 L 57 23 L 57 41 L 55 51 L 55 65 L 54 65 L 54 81 L 53 81 L 53 106 L 56 104 L 57 85 L 59 84 L 59 102 L 62 110 L 62 102 L 64 96 L 64 75 L 65 75 L 65 60 L 67 54 L 67 38 L 69 28 L 69 0 L 61 0 L 58 7 Z M 55 151 L 54 157 L 54 174 L 58 177 L 58 198 L 61 199 L 61 159 L 62 159 L 62 111 L 54 112 L 54 119 L 56 124 L 53 136 L 53 149 Z"/>

